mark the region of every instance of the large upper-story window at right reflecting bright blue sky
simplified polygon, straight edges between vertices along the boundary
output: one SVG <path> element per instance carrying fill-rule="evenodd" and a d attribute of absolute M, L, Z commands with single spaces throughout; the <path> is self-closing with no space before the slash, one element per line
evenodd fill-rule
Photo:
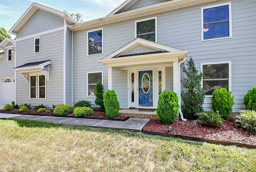
<path fill-rule="evenodd" d="M 202 41 L 232 37 L 231 2 L 201 8 Z"/>

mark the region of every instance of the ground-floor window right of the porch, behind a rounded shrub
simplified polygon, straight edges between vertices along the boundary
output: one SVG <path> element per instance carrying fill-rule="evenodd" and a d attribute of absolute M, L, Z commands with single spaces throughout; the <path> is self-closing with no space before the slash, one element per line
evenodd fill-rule
<path fill-rule="evenodd" d="M 203 72 L 203 90 L 206 96 L 212 96 L 216 89 L 231 91 L 231 63 L 201 64 Z"/>

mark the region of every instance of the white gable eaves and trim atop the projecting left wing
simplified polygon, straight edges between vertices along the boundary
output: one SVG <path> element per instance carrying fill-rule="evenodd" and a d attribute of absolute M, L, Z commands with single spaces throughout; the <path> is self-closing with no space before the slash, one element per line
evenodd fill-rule
<path fill-rule="evenodd" d="M 69 22 L 70 24 L 78 24 L 79 23 L 78 21 L 76 21 L 74 18 L 72 18 L 70 15 L 66 14 L 65 12 L 61 12 L 59 10 L 55 10 L 53 8 L 49 8 L 47 6 L 44 6 L 44 5 L 41 5 L 41 4 L 38 4 L 38 3 L 34 2 L 28 8 L 28 10 L 26 10 L 26 12 L 20 17 L 20 19 L 14 24 L 14 26 L 12 26 L 12 28 L 9 30 L 9 33 L 16 35 L 16 32 L 18 32 L 18 30 L 26 23 L 26 21 L 38 9 L 41 9 L 41 10 L 44 10 L 44 11 L 56 14 L 56 15 L 64 18 L 65 20 L 67 20 L 67 22 Z"/>

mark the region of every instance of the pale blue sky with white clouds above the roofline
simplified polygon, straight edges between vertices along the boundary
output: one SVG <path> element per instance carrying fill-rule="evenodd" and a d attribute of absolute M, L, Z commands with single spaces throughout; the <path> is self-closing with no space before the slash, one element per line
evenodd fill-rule
<path fill-rule="evenodd" d="M 83 22 L 102 18 L 125 0 L 0 0 L 0 27 L 9 31 L 33 2 L 55 10 L 80 13 Z M 12 38 L 14 35 L 10 34 Z"/>

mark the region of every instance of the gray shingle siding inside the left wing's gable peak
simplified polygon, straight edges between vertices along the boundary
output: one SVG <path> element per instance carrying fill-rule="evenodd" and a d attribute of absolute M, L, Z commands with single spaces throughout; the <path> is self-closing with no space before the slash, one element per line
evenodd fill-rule
<path fill-rule="evenodd" d="M 18 30 L 16 38 L 23 38 L 64 26 L 64 20 L 56 14 L 38 9 Z"/>

